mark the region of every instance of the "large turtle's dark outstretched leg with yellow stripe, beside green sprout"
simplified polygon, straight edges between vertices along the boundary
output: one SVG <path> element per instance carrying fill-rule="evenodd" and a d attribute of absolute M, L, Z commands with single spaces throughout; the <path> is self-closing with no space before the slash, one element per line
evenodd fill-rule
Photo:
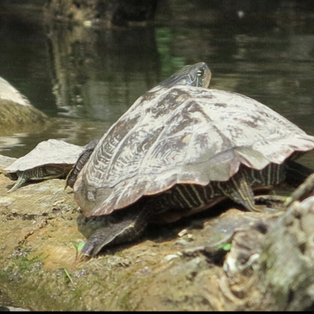
<path fill-rule="evenodd" d="M 139 237 L 147 226 L 147 208 L 128 209 L 124 211 L 121 221 L 95 231 L 86 241 L 82 252 L 95 256 L 104 246 L 133 241 Z"/>

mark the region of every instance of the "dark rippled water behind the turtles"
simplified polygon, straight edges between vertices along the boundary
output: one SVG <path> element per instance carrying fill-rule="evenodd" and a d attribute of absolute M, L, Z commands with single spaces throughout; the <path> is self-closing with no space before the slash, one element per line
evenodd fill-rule
<path fill-rule="evenodd" d="M 275 1 L 229 11 L 161 3 L 154 27 L 129 29 L 41 27 L 0 14 L 0 76 L 54 121 L 40 134 L 0 134 L 0 154 L 19 157 L 52 137 L 83 145 L 138 96 L 199 61 L 212 70 L 211 87 L 255 98 L 314 134 L 313 11 Z"/>

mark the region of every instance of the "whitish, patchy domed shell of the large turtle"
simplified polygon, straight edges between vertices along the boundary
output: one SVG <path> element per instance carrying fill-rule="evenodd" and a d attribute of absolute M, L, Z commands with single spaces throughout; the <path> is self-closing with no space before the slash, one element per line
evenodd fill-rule
<path fill-rule="evenodd" d="M 178 183 L 227 181 L 241 164 L 261 170 L 314 137 L 241 94 L 156 86 L 104 134 L 74 185 L 86 216 L 110 214 Z"/>

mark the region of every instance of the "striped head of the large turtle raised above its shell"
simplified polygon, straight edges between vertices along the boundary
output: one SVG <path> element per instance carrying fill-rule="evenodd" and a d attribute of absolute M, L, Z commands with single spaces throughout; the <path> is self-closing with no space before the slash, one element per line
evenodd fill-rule
<path fill-rule="evenodd" d="M 175 85 L 189 85 L 198 87 L 208 87 L 211 72 L 205 62 L 198 62 L 192 65 L 186 65 L 180 71 L 171 75 L 160 84 L 161 86 L 171 87 Z"/>

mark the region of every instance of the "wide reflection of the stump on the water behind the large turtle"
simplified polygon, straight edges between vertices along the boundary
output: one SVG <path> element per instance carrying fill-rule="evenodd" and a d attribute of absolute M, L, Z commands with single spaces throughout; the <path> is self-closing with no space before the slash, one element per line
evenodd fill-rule
<path fill-rule="evenodd" d="M 50 30 L 54 93 L 64 116 L 113 123 L 159 81 L 153 28 Z"/>

